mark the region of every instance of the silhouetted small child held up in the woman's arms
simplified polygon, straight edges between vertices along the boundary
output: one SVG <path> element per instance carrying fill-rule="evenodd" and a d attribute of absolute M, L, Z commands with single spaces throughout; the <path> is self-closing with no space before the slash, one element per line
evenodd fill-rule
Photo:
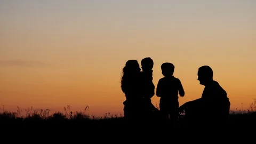
<path fill-rule="evenodd" d="M 141 60 L 141 78 L 143 84 L 143 98 L 145 99 L 146 111 L 153 112 L 158 110 L 153 103 L 151 98 L 155 95 L 155 85 L 153 83 L 153 66 L 154 61 L 147 57 Z"/>

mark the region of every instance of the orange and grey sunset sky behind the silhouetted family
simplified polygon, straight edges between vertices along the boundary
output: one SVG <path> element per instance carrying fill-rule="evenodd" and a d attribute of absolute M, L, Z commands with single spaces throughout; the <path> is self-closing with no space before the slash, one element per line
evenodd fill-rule
<path fill-rule="evenodd" d="M 197 70 L 209 65 L 231 109 L 256 98 L 256 1 L 0 1 L 0 107 L 33 106 L 123 114 L 125 62 L 172 62 L 185 89 L 201 98 Z M 154 105 L 159 98 L 154 95 Z M 243 105 L 242 105 L 243 103 Z"/>

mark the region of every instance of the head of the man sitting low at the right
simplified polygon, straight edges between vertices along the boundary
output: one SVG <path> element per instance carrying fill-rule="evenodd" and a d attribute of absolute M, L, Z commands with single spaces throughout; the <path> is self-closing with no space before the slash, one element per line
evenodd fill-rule
<path fill-rule="evenodd" d="M 198 68 L 197 72 L 197 80 L 201 85 L 205 85 L 211 81 L 213 81 L 213 70 L 209 66 L 202 66 Z"/>

